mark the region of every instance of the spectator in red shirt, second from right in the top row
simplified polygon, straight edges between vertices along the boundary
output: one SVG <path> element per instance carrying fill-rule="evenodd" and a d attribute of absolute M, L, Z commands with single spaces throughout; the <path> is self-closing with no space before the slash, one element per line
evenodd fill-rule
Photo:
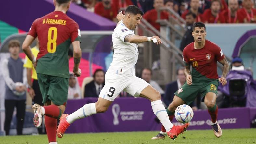
<path fill-rule="evenodd" d="M 238 13 L 238 0 L 228 0 L 228 9 L 221 12 L 223 16 L 221 23 L 243 23 L 244 18 L 241 13 Z"/>

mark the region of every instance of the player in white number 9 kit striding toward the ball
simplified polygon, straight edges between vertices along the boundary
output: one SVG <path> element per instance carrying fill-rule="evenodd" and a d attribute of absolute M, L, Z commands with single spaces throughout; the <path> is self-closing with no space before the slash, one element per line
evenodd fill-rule
<path fill-rule="evenodd" d="M 63 114 L 57 129 L 57 136 L 62 138 L 67 127 L 77 119 L 92 114 L 104 113 L 124 90 L 134 97 L 143 97 L 151 101 L 154 114 L 167 130 L 167 135 L 174 139 L 186 130 L 189 123 L 175 126 L 168 117 L 160 93 L 145 80 L 135 76 L 135 64 L 138 60 L 138 43 L 153 42 L 161 44 L 158 36 L 143 37 L 134 34 L 134 29 L 140 24 L 143 12 L 134 5 L 125 10 L 123 20 L 119 21 L 112 34 L 113 61 L 105 75 L 105 86 L 102 88 L 96 103 L 85 104 L 82 108 L 68 115 Z M 154 40 L 153 40 L 154 39 Z"/>

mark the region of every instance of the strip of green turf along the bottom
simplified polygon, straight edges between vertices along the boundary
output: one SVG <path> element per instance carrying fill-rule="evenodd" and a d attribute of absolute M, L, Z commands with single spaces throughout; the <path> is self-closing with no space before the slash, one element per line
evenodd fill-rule
<path fill-rule="evenodd" d="M 202 143 L 202 144 L 254 144 L 256 143 L 256 129 L 224 129 L 221 138 L 215 138 L 212 130 L 188 130 L 179 135 L 176 140 L 151 140 L 157 131 L 149 132 L 119 132 L 119 133 L 79 133 L 65 134 L 57 138 L 58 144 L 148 144 L 148 143 Z M 46 135 L 0 136 L 1 144 L 47 144 Z"/>

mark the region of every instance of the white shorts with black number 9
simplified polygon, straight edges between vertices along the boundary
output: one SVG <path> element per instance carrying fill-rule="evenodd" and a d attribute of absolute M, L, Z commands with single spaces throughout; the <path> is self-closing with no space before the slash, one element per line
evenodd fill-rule
<path fill-rule="evenodd" d="M 122 90 L 134 97 L 139 97 L 141 91 L 148 85 L 149 83 L 136 76 L 107 72 L 105 75 L 105 85 L 102 88 L 99 97 L 114 101 Z"/>

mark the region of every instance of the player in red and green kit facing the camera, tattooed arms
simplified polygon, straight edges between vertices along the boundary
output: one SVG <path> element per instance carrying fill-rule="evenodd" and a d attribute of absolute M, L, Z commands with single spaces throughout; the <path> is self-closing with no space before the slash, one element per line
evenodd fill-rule
<path fill-rule="evenodd" d="M 192 29 L 195 42 L 190 43 L 183 50 L 186 83 L 175 93 L 173 101 L 166 111 L 172 121 L 175 109 L 181 104 L 193 102 L 199 92 L 203 96 L 202 102 L 207 106 L 211 116 L 211 126 L 214 134 L 219 138 L 222 135 L 222 130 L 217 122 L 217 88 L 219 82 L 222 85 L 227 83 L 225 77 L 228 73 L 228 62 L 218 45 L 205 40 L 206 31 L 204 23 L 196 22 Z M 217 74 L 217 61 L 223 65 L 221 78 Z M 192 72 L 190 72 L 191 65 Z M 161 132 L 152 139 L 164 138 L 165 132 L 166 130 L 162 126 Z"/>

